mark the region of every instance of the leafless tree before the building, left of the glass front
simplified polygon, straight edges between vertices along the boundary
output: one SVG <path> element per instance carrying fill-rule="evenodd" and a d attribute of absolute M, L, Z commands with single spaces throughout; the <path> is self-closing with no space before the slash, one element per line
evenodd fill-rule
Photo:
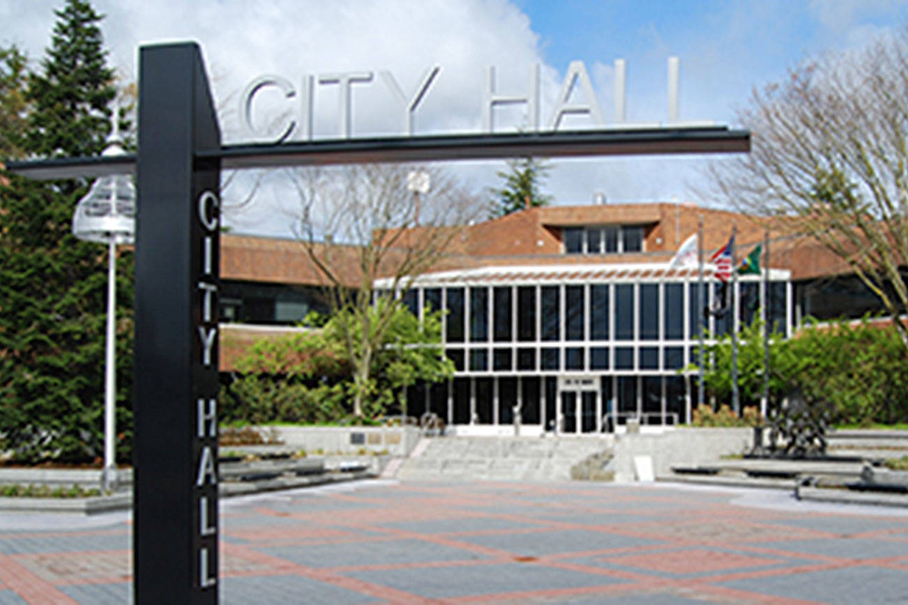
<path fill-rule="evenodd" d="M 429 191 L 408 188 L 415 170 L 427 173 Z M 299 237 L 329 285 L 353 366 L 353 414 L 361 416 L 373 356 L 400 305 L 394 294 L 439 263 L 483 204 L 437 168 L 358 164 L 290 173 L 301 200 Z M 387 284 L 381 292 L 379 278 Z"/>

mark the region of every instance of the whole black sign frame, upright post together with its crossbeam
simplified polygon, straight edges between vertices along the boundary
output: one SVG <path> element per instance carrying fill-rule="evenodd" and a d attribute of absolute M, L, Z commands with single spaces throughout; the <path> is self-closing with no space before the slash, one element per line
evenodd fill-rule
<path fill-rule="evenodd" d="M 199 46 L 144 46 L 139 60 L 137 155 L 10 162 L 9 169 L 38 179 L 136 175 L 133 594 L 140 605 L 218 600 L 216 309 L 223 169 L 748 151 L 750 145 L 744 131 L 672 126 L 222 146 Z M 583 85 L 585 70 L 571 70 L 570 85 Z M 400 93 L 408 119 L 435 74 L 429 70 L 413 95 Z M 349 88 L 358 82 L 354 75 L 323 77 L 321 83 Z M 507 99 L 492 95 L 487 101 L 491 109 Z"/>

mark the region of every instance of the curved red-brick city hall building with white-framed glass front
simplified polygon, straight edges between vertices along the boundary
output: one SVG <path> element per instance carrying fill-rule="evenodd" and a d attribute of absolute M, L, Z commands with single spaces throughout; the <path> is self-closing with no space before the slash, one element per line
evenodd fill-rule
<path fill-rule="evenodd" d="M 434 413 L 460 434 L 513 434 L 517 421 L 521 434 L 621 430 L 632 417 L 686 423 L 697 401 L 698 318 L 725 335 L 765 309 L 790 337 L 807 316 L 878 310 L 844 263 L 776 224 L 765 287 L 761 275 L 739 276 L 734 309 L 705 313 L 722 306 L 713 269 L 701 300 L 697 268 L 669 268 L 700 219 L 707 258 L 733 226 L 739 259 L 764 241 L 761 221 L 676 203 L 532 208 L 465 228 L 437 268 L 396 293 L 418 316 L 445 310 L 444 349 L 457 370 L 448 383 L 410 388 L 406 413 Z M 237 343 L 324 310 L 320 285 L 300 242 L 224 236 L 222 341 L 233 340 L 222 370 Z"/>

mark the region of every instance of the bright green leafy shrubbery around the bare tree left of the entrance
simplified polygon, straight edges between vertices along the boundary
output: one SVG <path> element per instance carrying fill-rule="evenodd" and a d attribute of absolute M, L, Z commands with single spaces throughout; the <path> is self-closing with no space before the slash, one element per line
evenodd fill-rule
<path fill-rule="evenodd" d="M 390 325 L 372 356 L 367 416 L 383 415 L 397 394 L 416 382 L 439 382 L 454 374 L 441 348 L 441 315 L 427 312 L 420 321 L 391 298 L 371 307 L 380 316 L 393 308 Z M 345 326 L 350 311 L 327 319 L 308 332 L 263 339 L 237 363 L 242 377 L 222 392 L 222 415 L 228 421 L 337 422 L 353 411 L 350 396 L 357 390 L 346 347 Z M 321 324 L 321 321 L 308 322 Z M 304 322 L 305 323 L 305 322 Z M 372 324 L 374 325 L 374 321 Z M 405 398 L 400 398 L 406 413 Z"/>

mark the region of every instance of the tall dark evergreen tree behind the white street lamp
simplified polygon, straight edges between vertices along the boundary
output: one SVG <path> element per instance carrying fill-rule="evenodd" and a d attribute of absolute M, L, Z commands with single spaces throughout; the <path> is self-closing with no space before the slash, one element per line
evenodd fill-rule
<path fill-rule="evenodd" d="M 78 156 L 104 148 L 114 98 L 100 16 L 69 0 L 56 13 L 41 73 L 28 77 L 25 154 Z M 75 239 L 86 182 L 0 179 L 0 451 L 24 461 L 91 461 L 103 453 L 106 249 Z M 118 456 L 132 412 L 132 254 L 117 277 Z"/>

